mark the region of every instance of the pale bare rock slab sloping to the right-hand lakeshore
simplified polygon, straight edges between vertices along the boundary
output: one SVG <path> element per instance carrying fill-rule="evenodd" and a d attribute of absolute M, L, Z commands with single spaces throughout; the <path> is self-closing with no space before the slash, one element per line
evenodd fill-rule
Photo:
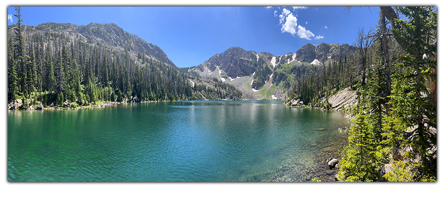
<path fill-rule="evenodd" d="M 356 105 L 357 95 L 355 90 L 347 87 L 337 94 L 332 95 L 328 102 L 332 105 L 335 111 L 349 111 L 349 109 Z"/>

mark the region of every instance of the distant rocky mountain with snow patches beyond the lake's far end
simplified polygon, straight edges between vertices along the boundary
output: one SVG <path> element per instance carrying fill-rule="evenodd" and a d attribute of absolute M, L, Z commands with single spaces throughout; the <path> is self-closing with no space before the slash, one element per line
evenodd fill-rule
<path fill-rule="evenodd" d="M 327 43 L 308 43 L 295 53 L 283 55 L 231 47 L 189 70 L 202 77 L 228 82 L 242 91 L 247 99 L 284 99 L 284 91 L 294 78 L 300 76 L 300 68 L 317 67 L 332 56 L 338 60 L 354 51 L 355 47 L 349 44 Z"/>

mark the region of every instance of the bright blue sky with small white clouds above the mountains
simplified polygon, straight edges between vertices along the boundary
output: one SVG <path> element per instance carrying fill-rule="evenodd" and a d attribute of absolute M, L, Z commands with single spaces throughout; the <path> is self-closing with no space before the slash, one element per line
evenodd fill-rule
<path fill-rule="evenodd" d="M 115 23 L 159 46 L 178 67 L 197 66 L 216 53 L 239 46 L 281 55 L 306 43 L 348 43 L 358 27 L 377 24 L 378 7 L 344 6 L 22 6 L 25 25 Z M 17 22 L 7 7 L 8 25 Z M 11 18 L 9 18 L 11 16 Z"/>

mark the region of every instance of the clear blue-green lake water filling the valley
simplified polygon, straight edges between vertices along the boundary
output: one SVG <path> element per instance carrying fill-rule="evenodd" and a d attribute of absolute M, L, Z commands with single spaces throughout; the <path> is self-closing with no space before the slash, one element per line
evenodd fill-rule
<path fill-rule="evenodd" d="M 8 181 L 273 181 L 317 164 L 348 125 L 281 101 L 8 111 Z"/>

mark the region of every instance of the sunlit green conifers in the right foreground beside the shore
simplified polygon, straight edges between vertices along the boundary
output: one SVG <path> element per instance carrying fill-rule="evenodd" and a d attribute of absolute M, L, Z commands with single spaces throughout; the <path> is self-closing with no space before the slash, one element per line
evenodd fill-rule
<path fill-rule="evenodd" d="M 437 181 L 437 12 L 380 8 L 376 29 L 358 31 L 358 103 L 339 179 Z"/>

